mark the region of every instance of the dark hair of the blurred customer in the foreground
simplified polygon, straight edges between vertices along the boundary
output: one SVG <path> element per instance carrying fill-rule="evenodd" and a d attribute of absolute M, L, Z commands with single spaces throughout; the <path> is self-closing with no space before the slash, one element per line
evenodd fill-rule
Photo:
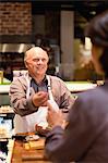
<path fill-rule="evenodd" d="M 91 38 L 94 46 L 104 49 L 99 62 L 108 77 L 108 10 L 95 16 L 85 29 L 85 36 Z"/>

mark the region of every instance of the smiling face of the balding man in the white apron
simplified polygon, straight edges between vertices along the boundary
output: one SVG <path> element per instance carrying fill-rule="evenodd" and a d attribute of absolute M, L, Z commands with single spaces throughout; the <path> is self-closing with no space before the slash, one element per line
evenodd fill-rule
<path fill-rule="evenodd" d="M 48 55 L 46 51 L 33 50 L 27 58 L 27 68 L 33 76 L 46 74 L 48 67 Z"/>

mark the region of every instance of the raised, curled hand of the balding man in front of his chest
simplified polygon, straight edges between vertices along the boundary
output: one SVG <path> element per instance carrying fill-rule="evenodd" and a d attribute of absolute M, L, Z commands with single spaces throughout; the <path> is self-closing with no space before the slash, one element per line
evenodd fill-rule
<path fill-rule="evenodd" d="M 48 92 L 38 91 L 33 96 L 33 103 L 35 106 L 44 106 L 46 105 L 48 100 Z"/>

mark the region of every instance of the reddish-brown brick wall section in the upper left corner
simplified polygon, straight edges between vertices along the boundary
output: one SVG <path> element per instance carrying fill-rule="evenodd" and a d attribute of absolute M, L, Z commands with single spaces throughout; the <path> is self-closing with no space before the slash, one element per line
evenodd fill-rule
<path fill-rule="evenodd" d="M 8 40 L 7 36 L 10 38 Z M 32 35 L 31 2 L 0 2 L 0 38 L 8 42 L 19 41 L 20 37 Z M 13 40 L 13 37 L 16 40 Z M 20 40 L 20 41 L 21 41 Z"/>

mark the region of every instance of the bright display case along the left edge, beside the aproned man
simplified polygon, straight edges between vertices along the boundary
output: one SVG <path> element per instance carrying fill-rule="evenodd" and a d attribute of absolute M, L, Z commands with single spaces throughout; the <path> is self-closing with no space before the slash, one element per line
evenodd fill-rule
<path fill-rule="evenodd" d="M 10 158 L 12 154 L 12 143 L 10 145 L 10 142 L 13 142 L 14 113 L 10 106 L 10 80 L 3 78 L 0 85 L 0 163 L 11 163 Z"/>

